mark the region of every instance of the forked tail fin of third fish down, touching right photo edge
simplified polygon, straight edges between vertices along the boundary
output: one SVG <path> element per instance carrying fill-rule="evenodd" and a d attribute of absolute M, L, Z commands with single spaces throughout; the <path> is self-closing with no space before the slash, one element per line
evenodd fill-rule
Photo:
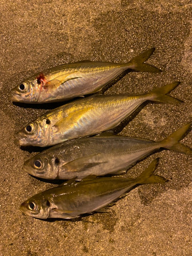
<path fill-rule="evenodd" d="M 173 151 L 177 151 L 177 152 L 192 156 L 192 148 L 185 146 L 184 144 L 179 142 L 179 140 L 182 139 L 184 134 L 191 127 L 191 124 L 192 122 L 183 125 L 176 132 L 174 132 L 173 134 L 169 135 L 167 138 L 162 140 L 160 142 L 162 147 L 167 148 L 167 150 L 173 150 Z"/>

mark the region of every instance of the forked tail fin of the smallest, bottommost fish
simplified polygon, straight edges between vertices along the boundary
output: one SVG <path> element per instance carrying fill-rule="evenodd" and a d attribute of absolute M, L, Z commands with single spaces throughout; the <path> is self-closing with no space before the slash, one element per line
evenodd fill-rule
<path fill-rule="evenodd" d="M 135 180 L 137 184 L 150 184 L 150 183 L 161 183 L 164 184 L 168 180 L 158 175 L 154 175 L 154 171 L 159 162 L 159 158 L 153 160 L 151 164 L 146 167 L 146 169 L 142 172 L 142 174 Z"/>

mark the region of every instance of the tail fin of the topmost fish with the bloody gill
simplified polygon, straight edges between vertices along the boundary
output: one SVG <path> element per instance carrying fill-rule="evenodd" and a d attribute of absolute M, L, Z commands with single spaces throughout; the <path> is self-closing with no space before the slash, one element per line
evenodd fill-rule
<path fill-rule="evenodd" d="M 128 63 L 126 63 L 128 69 L 133 69 L 141 72 L 152 72 L 152 73 L 160 73 L 162 72 L 160 69 L 153 67 L 149 64 L 144 63 L 155 51 L 155 48 L 151 48 L 135 58 L 131 59 Z"/>

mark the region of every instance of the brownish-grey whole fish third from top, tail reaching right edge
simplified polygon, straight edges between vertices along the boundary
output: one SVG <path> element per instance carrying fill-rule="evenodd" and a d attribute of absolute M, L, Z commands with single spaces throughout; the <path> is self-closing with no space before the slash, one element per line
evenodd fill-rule
<path fill-rule="evenodd" d="M 179 142 L 191 124 L 159 142 L 106 132 L 66 141 L 33 156 L 22 170 L 42 179 L 80 180 L 89 175 L 121 174 L 160 147 L 192 156 L 192 149 Z"/>

